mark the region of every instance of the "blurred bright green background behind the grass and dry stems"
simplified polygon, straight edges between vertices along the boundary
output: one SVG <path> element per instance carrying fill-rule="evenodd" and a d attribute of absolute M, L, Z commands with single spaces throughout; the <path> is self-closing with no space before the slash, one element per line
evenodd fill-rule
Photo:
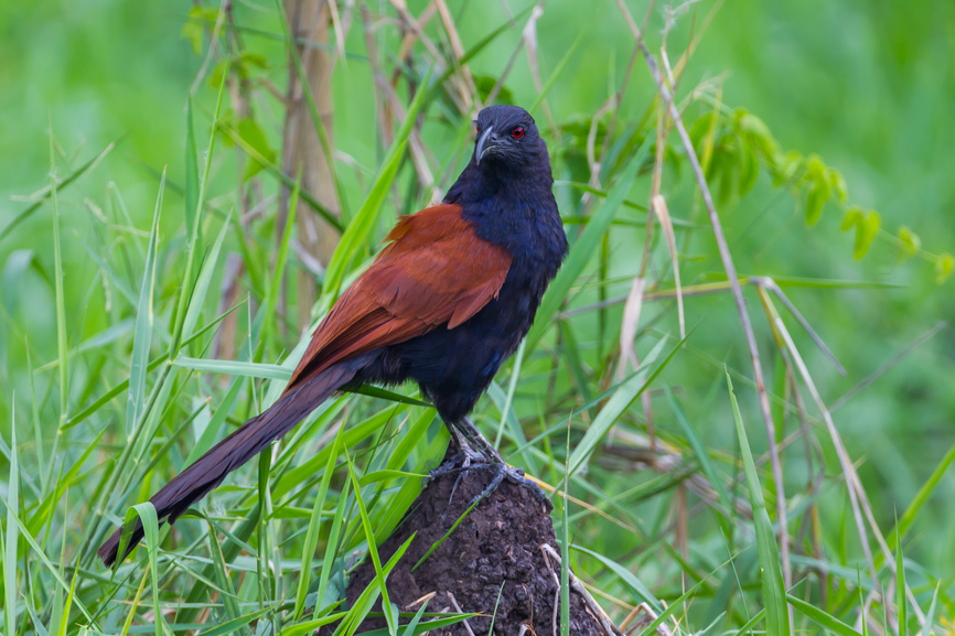
<path fill-rule="evenodd" d="M 527 3 L 452 3 L 465 48 L 505 20 L 508 4 L 516 13 Z M 646 11 L 645 3 L 627 4 L 637 19 Z M 736 0 L 717 4 L 704 1 L 683 7 L 696 15 L 682 15 L 668 36 L 675 61 L 690 35 L 705 26 L 678 94 L 685 97 L 700 82 L 719 83 L 722 101 L 762 118 L 783 149 L 818 153 L 840 171 L 849 201 L 877 209 L 889 233 L 905 225 L 921 236 L 927 254 L 955 251 L 955 3 Z M 409 6 L 417 12 L 423 2 Z M 190 8 L 183 1 L 0 3 L 0 227 L 30 205 L 24 197 L 49 182 L 51 125 L 65 162 L 78 158 L 74 165 L 121 139 L 101 165 L 62 196 L 66 294 L 72 308 L 68 315 L 78 321 L 71 331 L 71 342 L 96 331 L 82 325 L 103 328 L 109 320 L 101 306 L 87 304 L 93 294 L 89 280 L 97 266 L 86 249 L 90 224 L 84 198 L 104 198 L 107 184 L 115 182 L 137 227 L 148 229 L 157 180 L 144 166 L 161 170 L 168 165 L 170 179 L 183 182 L 186 96 L 205 54 L 204 48 L 196 55 L 180 34 Z M 652 9 L 647 31 L 652 47 L 659 44 L 666 10 L 662 3 Z M 279 32 L 271 3 L 237 2 L 236 12 L 244 24 Z M 537 30 L 545 77 L 581 30 L 581 44 L 549 95 L 558 122 L 589 121 L 619 86 L 632 54 L 632 39 L 614 2 L 550 0 Z M 360 31 L 353 26 L 346 43 L 346 50 L 356 55 L 334 75 L 335 145 L 374 170 L 382 151 L 374 104 L 368 99 L 372 76 L 362 58 Z M 287 76 L 282 43 L 253 33 L 246 37 L 248 48 L 268 61 L 264 75 L 282 84 Z M 519 30 L 506 32 L 471 63 L 472 71 L 496 76 L 518 40 Z M 536 98 L 523 57 L 506 88 L 517 104 Z M 652 95 L 646 65 L 637 60 L 622 112 L 639 118 Z M 214 105 L 207 78 L 196 97 L 206 108 L 197 110 L 202 147 L 207 109 Z M 280 117 L 265 107 L 258 117 L 272 145 L 278 145 Z M 450 133 L 437 125 L 429 130 L 426 125 L 425 134 L 438 148 L 436 155 L 444 158 L 441 144 Z M 684 165 L 683 172 L 667 179 L 688 183 L 688 176 Z M 211 195 L 227 197 L 230 185 L 234 181 L 218 176 Z M 674 216 L 689 217 L 689 192 L 685 187 L 674 193 Z M 565 192 L 562 196 L 577 194 Z M 168 209 L 163 225 L 180 227 L 182 206 L 168 205 Z M 750 194 L 721 206 L 721 213 L 741 273 L 897 285 L 787 289 L 848 371 L 847 377 L 839 376 L 805 334 L 791 325 L 828 403 L 903 353 L 940 321 L 953 316 L 955 281 L 936 281 L 934 266 L 925 259 L 900 262 L 899 250 L 886 240 L 877 240 L 865 259 L 855 260 L 852 235 L 839 230 L 843 215 L 835 206 L 827 206 L 818 225 L 806 227 L 802 204 L 761 177 Z M 51 223 L 50 206 L 43 206 L 0 242 L 0 268 L 8 268 L 14 252 L 25 249 L 34 250 L 42 263 L 23 279 L 3 280 L 0 430 L 4 431 L 11 420 L 14 391 L 18 410 L 29 408 L 23 399 L 30 395 L 30 386 L 23 370 L 22 336 L 29 337 L 34 365 L 56 356 L 52 287 L 43 280 L 44 272 L 53 269 Z M 615 250 L 634 246 L 633 254 L 639 255 L 642 245 L 642 228 L 614 233 Z M 665 250 L 656 256 L 661 263 L 667 262 Z M 685 283 L 719 278 L 719 260 L 708 241 L 694 244 L 684 259 Z M 629 267 L 625 259 L 614 268 L 618 276 L 635 271 L 635 265 Z M 77 284 L 71 284 L 74 281 Z M 629 283 L 623 282 L 611 295 L 627 289 Z M 759 315 L 757 297 L 747 293 L 760 346 L 771 359 L 771 334 Z M 615 311 L 619 316 L 619 308 Z M 695 349 L 728 360 L 749 375 L 729 297 L 688 300 L 687 323 L 702 319 L 705 324 L 693 338 Z M 674 326 L 659 328 L 672 331 Z M 734 435 L 723 385 L 719 384 L 721 371 L 699 359 L 694 355 L 676 358 L 665 377 L 688 396 L 688 416 L 707 443 L 731 449 Z M 769 366 L 772 369 L 771 363 Z M 754 400 L 749 391 L 742 399 L 753 431 L 751 442 L 757 450 L 764 450 Z M 953 418 L 955 336 L 947 326 L 835 412 L 850 456 L 861 462 L 860 474 L 883 530 L 891 527 L 895 511 L 911 503 L 955 443 Z M 53 418 L 47 423 L 55 427 Z M 9 439 L 6 432 L 4 439 Z M 797 475 L 792 478 L 802 483 Z M 910 535 L 906 556 L 951 584 L 955 575 L 955 532 L 951 531 L 955 475 L 947 474 L 933 497 L 933 505 Z M 845 496 L 838 494 L 826 505 L 841 514 L 844 504 Z"/>

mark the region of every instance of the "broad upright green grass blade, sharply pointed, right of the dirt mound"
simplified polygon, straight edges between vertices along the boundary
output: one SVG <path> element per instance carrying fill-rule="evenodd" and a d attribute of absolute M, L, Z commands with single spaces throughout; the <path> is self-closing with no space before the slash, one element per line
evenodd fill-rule
<path fill-rule="evenodd" d="M 773 533 L 773 525 L 766 511 L 763 500 L 763 491 L 757 475 L 757 466 L 753 461 L 753 452 L 747 439 L 747 430 L 743 427 L 743 418 L 740 414 L 740 406 L 733 392 L 733 382 L 727 371 L 727 386 L 730 394 L 730 402 L 733 409 L 733 420 L 737 425 L 737 435 L 740 439 L 740 453 L 743 460 L 743 468 L 747 475 L 747 486 L 750 493 L 750 506 L 753 510 L 753 526 L 757 533 L 757 551 L 760 556 L 760 579 L 763 589 L 763 604 L 766 607 L 766 633 L 774 636 L 790 635 L 790 611 L 786 605 L 786 591 L 783 586 L 783 571 L 780 567 L 780 552 L 776 546 L 776 537 Z M 785 502 L 780 502 L 785 506 Z"/>

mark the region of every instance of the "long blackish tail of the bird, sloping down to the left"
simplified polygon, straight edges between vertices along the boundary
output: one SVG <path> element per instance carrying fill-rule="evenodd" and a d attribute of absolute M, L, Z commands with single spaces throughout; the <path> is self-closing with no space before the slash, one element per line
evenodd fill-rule
<path fill-rule="evenodd" d="M 150 502 L 160 522 L 172 524 L 206 493 L 222 484 L 226 475 L 256 456 L 272 441 L 296 427 L 325 401 L 335 389 L 350 382 L 360 364 L 346 360 L 334 365 L 285 394 L 261 414 L 250 419 L 211 451 L 162 487 Z M 106 565 L 116 561 L 122 528 L 116 530 L 99 548 Z M 142 524 L 137 520 L 122 559 L 142 540 Z M 121 559 L 120 559 L 121 560 Z"/>

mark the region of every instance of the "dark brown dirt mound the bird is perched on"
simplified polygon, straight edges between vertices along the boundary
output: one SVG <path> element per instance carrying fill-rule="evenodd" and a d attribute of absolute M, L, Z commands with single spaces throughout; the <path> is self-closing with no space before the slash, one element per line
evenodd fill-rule
<path fill-rule="evenodd" d="M 550 520 L 550 503 L 541 502 L 525 487 L 505 481 L 496 492 L 485 497 L 461 521 L 451 536 L 414 572 L 411 568 L 428 549 L 439 541 L 466 504 L 483 492 L 491 479 L 490 471 L 478 471 L 461 479 L 454 498 L 451 488 L 455 475 L 432 481 L 416 500 L 401 525 L 378 549 L 382 561 L 394 554 L 412 532 L 417 536 L 408 552 L 388 576 L 391 602 L 405 612 L 415 612 L 422 596 L 434 593 L 428 612 L 478 612 L 464 623 L 458 623 L 431 634 L 440 636 L 473 636 L 489 633 L 491 617 L 494 634 L 538 636 L 559 633 L 560 565 L 548 564 L 541 546 L 559 547 Z M 352 604 L 374 579 L 369 562 L 361 565 L 348 582 L 347 600 Z M 502 586 L 503 582 L 503 586 Z M 500 599 L 498 599 L 500 595 Z M 495 612 L 496 607 L 496 612 Z M 380 605 L 375 610 L 380 612 Z M 404 621 L 403 621 L 404 622 Z M 555 627 L 555 622 L 557 627 Z M 358 629 L 385 627 L 384 618 L 368 618 Z M 583 597 L 570 593 L 570 633 L 579 636 L 608 636 Z"/>

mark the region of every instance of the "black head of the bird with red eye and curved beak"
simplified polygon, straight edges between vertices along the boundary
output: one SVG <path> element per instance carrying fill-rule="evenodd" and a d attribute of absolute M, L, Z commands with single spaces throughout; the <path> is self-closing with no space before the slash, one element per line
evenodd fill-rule
<path fill-rule="evenodd" d="M 519 106 L 489 106 L 478 114 L 474 164 L 519 169 L 546 160 L 547 147 L 530 114 Z"/>

